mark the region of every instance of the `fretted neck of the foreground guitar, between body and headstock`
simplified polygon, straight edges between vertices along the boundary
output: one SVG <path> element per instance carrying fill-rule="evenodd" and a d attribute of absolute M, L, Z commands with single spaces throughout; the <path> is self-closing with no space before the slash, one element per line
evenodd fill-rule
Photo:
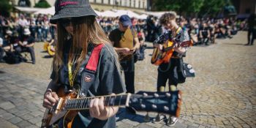
<path fill-rule="evenodd" d="M 115 96 L 102 96 L 104 97 L 105 106 L 128 106 L 129 97 L 131 94 L 120 94 Z M 67 99 L 64 105 L 64 110 L 86 110 L 89 109 L 91 99 L 99 97 L 85 97 L 78 99 Z"/>

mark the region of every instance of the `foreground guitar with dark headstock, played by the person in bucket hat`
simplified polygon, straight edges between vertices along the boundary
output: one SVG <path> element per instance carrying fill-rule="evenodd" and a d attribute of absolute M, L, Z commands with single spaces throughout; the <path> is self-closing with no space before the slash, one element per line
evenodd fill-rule
<path fill-rule="evenodd" d="M 46 109 L 42 118 L 41 128 L 48 128 L 63 119 L 64 128 L 71 128 L 72 120 L 79 110 L 89 109 L 91 99 L 96 97 L 78 97 L 77 91 L 64 93 L 64 89 L 57 91 L 59 102 L 51 109 Z M 166 113 L 178 117 L 181 110 L 181 91 L 148 92 L 137 94 L 117 94 L 104 97 L 105 106 L 129 106 L 138 111 Z M 64 118 L 63 118 L 64 117 Z"/>

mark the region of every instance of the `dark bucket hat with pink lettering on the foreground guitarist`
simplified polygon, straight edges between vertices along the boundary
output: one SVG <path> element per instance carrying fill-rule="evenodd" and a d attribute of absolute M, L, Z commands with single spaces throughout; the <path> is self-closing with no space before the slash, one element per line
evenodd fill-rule
<path fill-rule="evenodd" d="M 91 8 L 89 0 L 56 0 L 55 14 L 50 23 L 55 24 L 60 18 L 74 18 L 87 15 L 97 16 Z"/>

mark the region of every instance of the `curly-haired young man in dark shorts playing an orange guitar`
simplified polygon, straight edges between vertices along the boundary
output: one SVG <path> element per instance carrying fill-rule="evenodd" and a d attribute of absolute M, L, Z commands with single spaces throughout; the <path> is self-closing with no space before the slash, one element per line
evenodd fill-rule
<path fill-rule="evenodd" d="M 165 27 L 166 30 L 171 31 L 171 39 L 167 39 L 167 41 L 162 44 L 154 43 L 154 47 L 159 48 L 159 50 L 163 49 L 163 44 L 168 43 L 169 40 L 172 40 L 174 43 L 173 47 L 173 55 L 170 58 L 169 62 L 163 62 L 158 67 L 158 76 L 157 76 L 157 91 L 165 91 L 165 84 L 168 80 L 169 91 L 176 91 L 178 85 L 178 78 L 176 77 L 176 68 L 180 65 L 182 57 L 186 52 L 187 48 L 183 48 L 178 43 L 189 40 L 189 36 L 187 31 L 183 31 L 181 27 L 176 23 L 176 13 L 169 12 L 165 13 L 159 19 L 159 22 L 162 26 Z M 167 124 L 173 126 L 176 124 L 178 119 L 176 117 L 170 117 Z"/>

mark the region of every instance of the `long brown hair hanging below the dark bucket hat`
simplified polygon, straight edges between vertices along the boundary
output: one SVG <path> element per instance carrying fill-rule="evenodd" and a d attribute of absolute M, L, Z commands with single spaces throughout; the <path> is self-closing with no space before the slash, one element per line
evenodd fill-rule
<path fill-rule="evenodd" d="M 102 30 L 95 16 L 89 15 L 86 17 L 80 17 L 74 23 L 73 34 L 72 34 L 72 45 L 69 48 L 69 59 L 68 61 L 72 64 L 76 64 L 76 68 L 80 67 L 81 62 L 86 58 L 88 44 L 97 45 L 99 43 L 109 43 L 110 40 Z M 53 56 L 53 72 L 55 72 L 55 82 L 59 79 L 59 69 L 64 62 L 64 47 L 67 47 L 68 32 L 66 29 L 57 23 L 57 43 L 56 43 L 56 54 Z"/>

